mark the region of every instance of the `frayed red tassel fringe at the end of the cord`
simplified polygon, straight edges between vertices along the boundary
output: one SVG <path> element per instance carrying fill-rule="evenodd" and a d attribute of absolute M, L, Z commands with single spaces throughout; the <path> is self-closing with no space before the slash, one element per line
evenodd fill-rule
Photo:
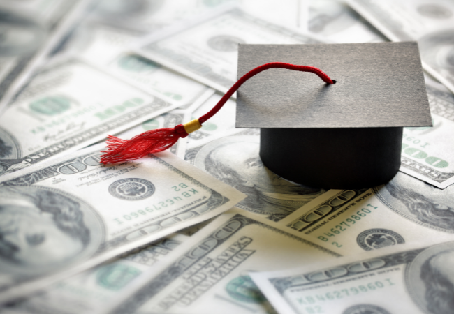
<path fill-rule="evenodd" d="M 148 154 L 159 153 L 170 148 L 179 138 L 188 136 L 184 126 L 179 124 L 175 128 L 159 128 L 147 130 L 147 132 L 136 135 L 131 140 L 122 140 L 118 137 L 108 135 L 107 150 L 101 156 L 101 163 L 122 163 L 147 156 Z"/>

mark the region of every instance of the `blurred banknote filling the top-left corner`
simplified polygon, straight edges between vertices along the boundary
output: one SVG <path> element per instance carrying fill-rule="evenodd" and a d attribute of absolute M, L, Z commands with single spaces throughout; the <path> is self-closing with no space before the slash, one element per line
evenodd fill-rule
<path fill-rule="evenodd" d="M 0 114 L 89 4 L 89 0 L 1 1 Z"/>

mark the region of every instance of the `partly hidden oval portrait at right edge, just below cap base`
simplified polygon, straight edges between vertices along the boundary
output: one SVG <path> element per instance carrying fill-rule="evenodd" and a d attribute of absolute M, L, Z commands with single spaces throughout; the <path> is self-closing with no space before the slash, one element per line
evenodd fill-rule
<path fill-rule="evenodd" d="M 388 207 L 410 220 L 437 230 L 454 232 L 454 186 L 444 190 L 397 172 L 375 190 Z"/>

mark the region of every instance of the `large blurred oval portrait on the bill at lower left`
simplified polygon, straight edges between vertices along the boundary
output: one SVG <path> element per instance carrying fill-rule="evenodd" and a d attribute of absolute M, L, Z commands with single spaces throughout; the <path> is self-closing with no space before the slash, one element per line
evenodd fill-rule
<path fill-rule="evenodd" d="M 0 188 L 3 271 L 40 273 L 93 253 L 103 227 L 86 204 L 56 190 Z"/>

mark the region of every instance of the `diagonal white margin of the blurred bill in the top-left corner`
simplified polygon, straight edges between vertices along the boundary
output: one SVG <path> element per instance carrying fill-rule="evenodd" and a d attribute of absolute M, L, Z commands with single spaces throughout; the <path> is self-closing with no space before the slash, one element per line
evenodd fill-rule
<path fill-rule="evenodd" d="M 64 21 L 60 23 L 56 30 L 52 33 L 52 36 L 47 39 L 47 43 L 41 47 L 38 52 L 31 58 L 29 64 L 22 69 L 22 73 L 15 77 L 10 87 L 6 90 L 5 94 L 0 98 L 0 116 L 8 109 L 10 100 L 20 92 L 20 89 L 27 83 L 38 68 L 40 68 L 47 59 L 47 55 L 52 52 L 52 49 L 58 45 L 58 43 L 64 38 L 68 31 L 71 31 L 71 27 L 78 22 L 80 16 L 85 13 L 89 6 L 91 6 L 92 0 L 80 0 L 73 8 L 69 15 L 66 15 Z"/>

